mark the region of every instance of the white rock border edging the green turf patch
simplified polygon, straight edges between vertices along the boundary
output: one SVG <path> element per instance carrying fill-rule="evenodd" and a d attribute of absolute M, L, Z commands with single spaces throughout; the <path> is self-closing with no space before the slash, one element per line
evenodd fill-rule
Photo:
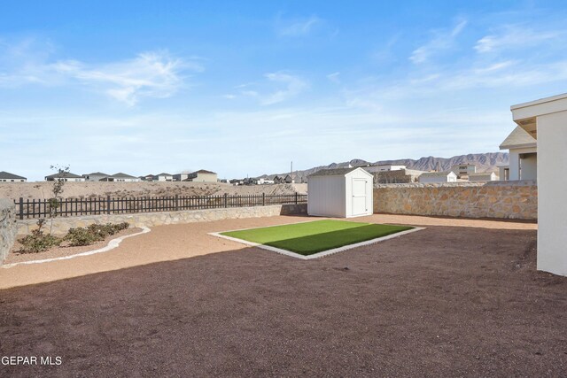
<path fill-rule="evenodd" d="M 306 222 L 299 222 L 299 223 L 306 223 Z M 289 223 L 289 224 L 296 224 L 296 223 Z M 274 226 L 265 226 L 265 227 L 260 227 L 260 228 L 270 228 L 270 227 L 276 227 L 276 226 L 287 226 L 287 225 L 274 225 Z M 314 253 L 314 254 L 308 255 L 308 256 L 303 256 L 303 255 L 300 255 L 299 253 L 282 250 L 281 248 L 276 248 L 276 247 L 272 247 L 272 246 L 269 246 L 269 245 L 248 242 L 247 240 L 238 239 L 236 237 L 221 235 L 221 233 L 224 233 L 224 232 L 245 231 L 245 230 L 248 230 L 248 229 L 255 229 L 255 228 L 243 228 L 243 229 L 235 229 L 235 230 L 229 230 L 229 231 L 211 232 L 208 235 L 221 237 L 222 239 L 227 239 L 227 240 L 231 240 L 233 242 L 250 245 L 252 247 L 257 247 L 257 248 L 260 248 L 262 250 L 281 253 L 282 255 L 290 256 L 291 258 L 299 258 L 299 259 L 302 259 L 302 260 L 310 260 L 310 259 L 313 259 L 313 258 L 322 258 L 322 257 L 325 257 L 325 256 L 329 256 L 329 255 L 332 255 L 333 253 L 352 250 L 353 248 L 358 248 L 358 247 L 361 247 L 363 245 L 369 245 L 369 244 L 383 242 L 384 240 L 393 239 L 394 237 L 399 237 L 401 235 L 408 235 L 408 234 L 411 234 L 412 232 L 421 231 L 425 228 L 415 227 L 415 228 L 412 228 L 412 229 L 408 229 L 406 231 L 397 232 L 397 233 L 392 234 L 392 235 L 377 237 L 376 239 L 367 240 L 366 242 L 349 244 L 349 245 L 345 245 L 343 247 L 333 248 L 332 250 L 317 252 L 317 253 Z"/>

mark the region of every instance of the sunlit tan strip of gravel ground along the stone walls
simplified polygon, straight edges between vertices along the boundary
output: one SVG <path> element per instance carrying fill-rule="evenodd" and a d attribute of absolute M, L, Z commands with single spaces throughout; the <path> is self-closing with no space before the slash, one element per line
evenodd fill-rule
<path fill-rule="evenodd" d="M 313 220 L 313 218 L 306 216 L 265 217 L 154 227 L 151 228 L 149 234 L 126 239 L 120 243 L 119 248 L 113 251 L 41 265 L 13 266 L 9 269 L 0 267 L 0 289 L 57 281 L 85 274 L 95 274 L 161 261 L 244 249 L 246 247 L 245 244 L 213 237 L 208 235 L 208 233 L 304 222 L 307 220 Z M 526 222 L 462 220 L 387 214 L 374 214 L 369 217 L 357 218 L 356 221 L 425 227 L 448 225 L 492 229 L 537 229 L 537 224 Z M 144 246 L 144 248 L 141 246 Z"/>

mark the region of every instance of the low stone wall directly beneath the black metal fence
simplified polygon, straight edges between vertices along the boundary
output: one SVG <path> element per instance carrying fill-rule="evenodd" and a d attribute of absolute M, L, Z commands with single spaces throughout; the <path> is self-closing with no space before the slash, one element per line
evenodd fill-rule
<path fill-rule="evenodd" d="M 231 207 L 227 209 L 191 210 L 183 212 L 142 212 L 136 214 L 89 215 L 61 217 L 53 220 L 53 234 L 65 234 L 69 228 L 90 224 L 128 222 L 134 227 L 229 220 L 240 218 L 273 217 L 276 215 L 307 214 L 307 204 L 273 204 L 269 206 Z M 37 220 L 18 220 L 18 235 L 27 235 L 36 228 Z M 50 227 L 48 220 L 45 228 Z"/>

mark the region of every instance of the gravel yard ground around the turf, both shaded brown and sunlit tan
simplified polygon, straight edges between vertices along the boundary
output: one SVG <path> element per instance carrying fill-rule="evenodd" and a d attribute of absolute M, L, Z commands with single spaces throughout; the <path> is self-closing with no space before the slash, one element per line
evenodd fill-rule
<path fill-rule="evenodd" d="M 567 279 L 535 271 L 525 224 L 430 225 L 308 261 L 206 235 L 299 220 L 154 228 L 114 255 L 218 253 L 0 291 L 0 356 L 62 358 L 0 375 L 567 374 Z"/>

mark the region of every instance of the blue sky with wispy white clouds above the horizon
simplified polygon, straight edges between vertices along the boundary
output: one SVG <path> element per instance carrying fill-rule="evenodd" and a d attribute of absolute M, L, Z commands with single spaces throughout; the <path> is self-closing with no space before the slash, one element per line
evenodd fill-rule
<path fill-rule="evenodd" d="M 0 171 L 221 177 L 498 150 L 565 92 L 563 2 L 18 1 Z"/>

